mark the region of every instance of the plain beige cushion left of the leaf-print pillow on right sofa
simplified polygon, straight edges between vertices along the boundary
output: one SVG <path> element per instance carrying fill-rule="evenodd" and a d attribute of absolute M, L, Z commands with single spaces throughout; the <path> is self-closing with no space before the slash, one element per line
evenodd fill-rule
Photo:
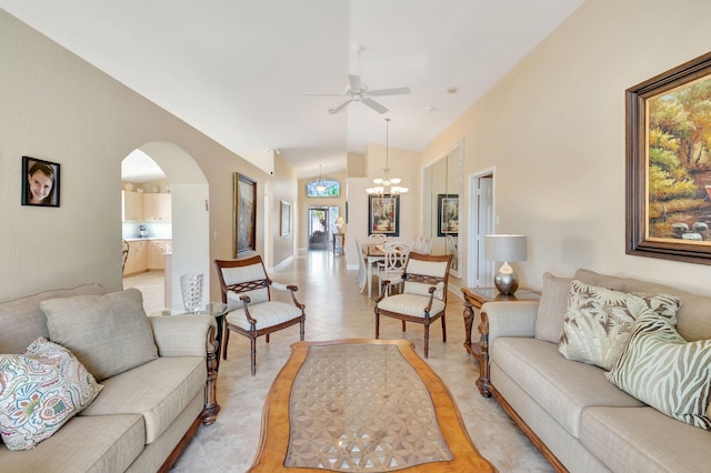
<path fill-rule="evenodd" d="M 547 342 L 560 342 L 563 332 L 563 319 L 568 312 L 570 298 L 570 278 L 557 278 L 543 273 L 543 289 L 535 316 L 535 338 Z"/>

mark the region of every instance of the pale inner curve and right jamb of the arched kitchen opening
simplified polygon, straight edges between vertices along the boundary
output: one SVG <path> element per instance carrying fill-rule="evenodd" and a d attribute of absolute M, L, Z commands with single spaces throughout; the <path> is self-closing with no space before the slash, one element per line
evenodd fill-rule
<path fill-rule="evenodd" d="M 210 207 L 209 184 L 196 160 L 182 148 L 153 141 L 138 148 L 150 157 L 170 182 L 172 256 L 166 268 L 168 309 L 183 308 L 180 275 L 203 273 L 203 302 L 210 298 Z M 167 301 L 168 302 L 168 301 Z"/>

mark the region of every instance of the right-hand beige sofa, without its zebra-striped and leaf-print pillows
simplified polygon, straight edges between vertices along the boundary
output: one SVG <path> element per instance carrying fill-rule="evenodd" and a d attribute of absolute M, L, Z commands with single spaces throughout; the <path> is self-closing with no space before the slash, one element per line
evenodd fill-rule
<path fill-rule="evenodd" d="M 628 293 L 678 296 L 677 330 L 687 341 L 711 339 L 711 296 L 588 270 L 572 279 L 547 276 L 540 302 L 482 306 L 482 351 L 489 360 L 477 383 L 482 395 L 493 395 L 559 471 L 709 471 L 711 432 L 618 389 L 605 370 L 563 358 L 558 340 L 573 279 Z"/>

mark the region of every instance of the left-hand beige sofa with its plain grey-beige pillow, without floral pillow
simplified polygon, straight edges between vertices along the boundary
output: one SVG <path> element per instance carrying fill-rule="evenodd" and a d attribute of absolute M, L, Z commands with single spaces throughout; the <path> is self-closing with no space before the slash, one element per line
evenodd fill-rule
<path fill-rule="evenodd" d="M 133 312 L 130 322 L 126 312 Z M 119 335 L 130 323 L 140 330 Z M 207 315 L 146 318 L 138 290 L 107 293 L 98 284 L 0 303 L 0 353 L 21 353 L 42 336 L 69 349 L 103 385 L 34 447 L 0 445 L 0 470 L 168 471 L 219 412 L 216 329 Z"/>

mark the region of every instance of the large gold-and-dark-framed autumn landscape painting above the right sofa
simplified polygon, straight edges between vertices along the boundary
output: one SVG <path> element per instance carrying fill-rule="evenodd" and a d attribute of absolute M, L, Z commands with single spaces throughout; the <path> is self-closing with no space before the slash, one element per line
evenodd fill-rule
<path fill-rule="evenodd" d="M 711 53 L 627 90 L 628 254 L 711 264 Z"/>

